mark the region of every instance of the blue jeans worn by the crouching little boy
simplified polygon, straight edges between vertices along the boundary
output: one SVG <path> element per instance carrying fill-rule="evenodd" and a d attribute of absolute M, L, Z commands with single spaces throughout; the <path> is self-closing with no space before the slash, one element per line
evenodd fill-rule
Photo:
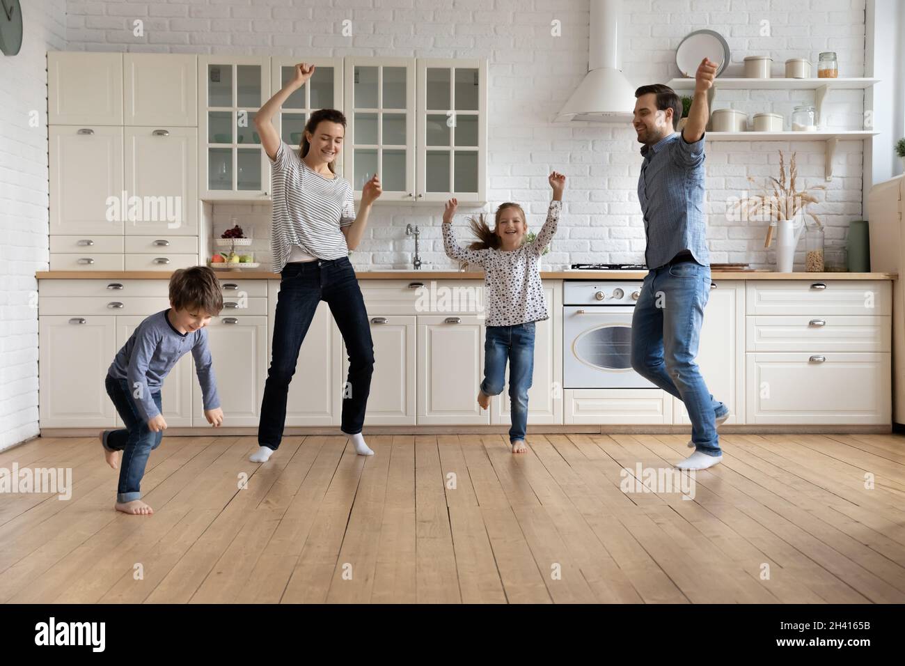
<path fill-rule="evenodd" d="M 129 381 L 115 380 L 107 375 L 104 384 L 107 387 L 107 395 L 119 413 L 119 418 L 126 426 L 124 429 L 107 430 L 104 433 L 104 449 L 122 451 L 116 501 L 131 502 L 133 499 L 141 498 L 141 478 L 145 476 L 148 456 L 160 446 L 164 433 L 148 430 L 148 421 L 138 411 L 138 406 L 129 391 Z M 157 405 L 157 410 L 162 413 L 160 391 L 151 393 L 151 399 Z"/>

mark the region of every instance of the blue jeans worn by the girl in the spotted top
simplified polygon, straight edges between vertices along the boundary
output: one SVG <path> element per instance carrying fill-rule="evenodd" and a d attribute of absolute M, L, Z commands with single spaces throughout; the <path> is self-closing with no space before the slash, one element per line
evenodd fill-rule
<path fill-rule="evenodd" d="M 500 395 L 510 362 L 510 441 L 525 439 L 528 428 L 528 390 L 534 373 L 534 322 L 515 326 L 488 326 L 484 338 L 484 395 Z"/>

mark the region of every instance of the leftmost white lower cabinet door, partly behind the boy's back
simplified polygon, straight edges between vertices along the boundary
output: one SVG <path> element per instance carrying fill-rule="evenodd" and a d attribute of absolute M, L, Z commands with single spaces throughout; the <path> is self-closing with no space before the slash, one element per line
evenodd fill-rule
<path fill-rule="evenodd" d="M 104 377 L 116 354 L 116 317 L 38 318 L 42 428 L 110 428 L 113 402 Z"/>

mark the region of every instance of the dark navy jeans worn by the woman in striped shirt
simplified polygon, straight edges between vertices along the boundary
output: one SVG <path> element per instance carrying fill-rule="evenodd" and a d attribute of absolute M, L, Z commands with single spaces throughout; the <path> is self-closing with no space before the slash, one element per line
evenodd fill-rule
<path fill-rule="evenodd" d="M 348 256 L 287 264 L 280 274 L 280 294 L 273 321 L 271 366 L 264 384 L 258 443 L 278 449 L 286 424 L 289 383 L 301 343 L 320 301 L 329 305 L 348 351 L 348 383 L 343 391 L 341 430 L 361 432 L 374 373 L 374 343 L 365 299 Z M 301 381 L 321 381 L 302 376 Z M 324 387 L 327 391 L 327 387 Z"/>

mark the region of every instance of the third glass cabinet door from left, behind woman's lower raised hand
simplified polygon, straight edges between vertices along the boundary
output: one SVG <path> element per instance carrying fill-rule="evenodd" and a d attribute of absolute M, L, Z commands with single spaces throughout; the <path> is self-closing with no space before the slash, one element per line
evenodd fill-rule
<path fill-rule="evenodd" d="M 345 178 L 380 177 L 379 201 L 414 201 L 414 60 L 346 58 Z"/>

